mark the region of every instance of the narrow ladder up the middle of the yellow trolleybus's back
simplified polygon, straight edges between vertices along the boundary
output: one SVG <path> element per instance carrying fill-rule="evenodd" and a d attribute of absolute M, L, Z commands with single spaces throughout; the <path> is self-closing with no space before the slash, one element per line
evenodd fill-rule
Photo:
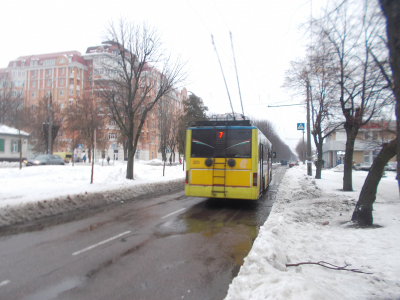
<path fill-rule="evenodd" d="M 219 138 L 218 137 L 218 131 L 216 130 L 215 126 L 214 126 L 214 163 L 212 165 L 212 190 L 211 193 L 212 194 L 216 194 L 216 193 L 223 193 L 223 195 L 225 195 L 226 191 L 225 191 L 225 175 L 226 175 L 226 139 L 227 139 L 227 126 L 225 126 L 224 133 L 222 135 L 223 138 Z M 218 151 L 218 153 L 216 153 Z M 218 154 L 218 155 L 216 155 Z M 222 156 L 223 157 L 223 162 L 216 162 L 215 161 L 215 156 Z M 222 168 L 215 168 L 216 165 L 222 165 Z M 219 176 L 215 175 L 215 170 L 217 171 L 217 174 Z M 223 176 L 221 176 L 221 171 L 223 171 Z M 218 179 L 216 179 L 218 178 Z M 223 181 L 223 186 L 221 186 L 220 181 Z M 215 183 L 215 181 L 219 182 L 219 183 Z M 221 189 L 215 189 L 215 187 L 223 187 L 223 190 Z"/>

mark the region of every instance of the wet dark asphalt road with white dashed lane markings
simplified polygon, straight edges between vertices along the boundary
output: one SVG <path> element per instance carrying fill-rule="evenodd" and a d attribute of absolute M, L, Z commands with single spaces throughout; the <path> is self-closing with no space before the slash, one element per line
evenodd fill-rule
<path fill-rule="evenodd" d="M 271 210 L 183 191 L 0 228 L 0 299 L 222 299 Z"/>

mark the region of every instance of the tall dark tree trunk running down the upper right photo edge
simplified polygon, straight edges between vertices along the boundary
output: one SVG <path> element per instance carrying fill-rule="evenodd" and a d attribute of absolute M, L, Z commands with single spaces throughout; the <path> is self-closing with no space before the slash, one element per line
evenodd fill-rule
<path fill-rule="evenodd" d="M 390 50 L 390 66 L 393 75 L 392 88 L 396 99 L 397 119 L 397 161 L 400 159 L 400 4 L 394 0 L 380 0 L 381 8 L 386 16 L 387 43 Z M 397 183 L 400 190 L 400 164 L 397 163 Z"/>

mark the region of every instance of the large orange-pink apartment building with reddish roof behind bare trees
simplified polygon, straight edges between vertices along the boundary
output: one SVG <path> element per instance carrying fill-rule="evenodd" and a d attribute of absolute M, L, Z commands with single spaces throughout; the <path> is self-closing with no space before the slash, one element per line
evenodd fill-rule
<path fill-rule="evenodd" d="M 78 51 L 65 51 L 39 55 L 20 56 L 8 63 L 6 68 L 0 69 L 0 81 L 7 81 L 12 86 L 12 93 L 17 96 L 21 93 L 24 105 L 35 109 L 39 99 L 52 95 L 52 102 L 58 105 L 60 110 L 67 105 L 76 103 L 76 98 L 85 94 L 86 97 L 99 98 L 96 90 L 96 80 L 105 73 L 98 62 L 104 52 L 112 53 L 115 46 L 103 42 L 101 45 L 88 47 L 85 54 Z M 159 72 L 154 68 L 149 69 L 154 80 Z M 155 94 L 155 92 L 153 93 Z M 167 96 L 173 103 L 177 113 L 183 113 L 182 101 L 187 99 L 187 91 L 174 90 Z M 161 158 L 158 143 L 157 107 L 147 115 L 143 125 L 140 139 L 137 145 L 136 159 L 149 160 Z M 106 121 L 105 128 L 108 150 L 106 157 L 114 160 L 123 160 L 123 146 L 118 142 L 119 129 L 115 121 Z M 105 132 L 104 130 L 104 132 Z M 58 131 L 53 151 L 72 151 L 70 148 L 70 136 L 63 130 L 62 122 Z M 62 142 L 60 142 L 62 141 Z M 59 147 L 59 148 L 55 148 Z M 83 149 L 74 153 L 82 157 L 86 152 Z M 31 153 L 34 155 L 35 153 Z M 101 157 L 97 149 L 96 157 Z"/>

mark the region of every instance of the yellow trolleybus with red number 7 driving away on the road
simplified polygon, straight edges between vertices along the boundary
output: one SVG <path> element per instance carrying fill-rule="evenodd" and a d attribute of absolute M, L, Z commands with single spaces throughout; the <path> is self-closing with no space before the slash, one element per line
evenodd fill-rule
<path fill-rule="evenodd" d="M 272 180 L 272 153 L 249 120 L 196 122 L 186 130 L 185 195 L 258 199 Z"/>

